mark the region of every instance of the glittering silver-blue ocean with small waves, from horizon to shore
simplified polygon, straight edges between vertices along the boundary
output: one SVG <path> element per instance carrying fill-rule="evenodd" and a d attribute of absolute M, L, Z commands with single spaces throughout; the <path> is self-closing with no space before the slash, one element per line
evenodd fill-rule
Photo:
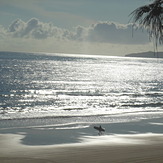
<path fill-rule="evenodd" d="M 0 52 L 0 128 L 163 117 L 163 59 Z"/>

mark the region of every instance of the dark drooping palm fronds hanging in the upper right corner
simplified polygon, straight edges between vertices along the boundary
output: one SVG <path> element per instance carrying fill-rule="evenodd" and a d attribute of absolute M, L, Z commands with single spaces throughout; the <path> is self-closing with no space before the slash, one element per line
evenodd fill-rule
<path fill-rule="evenodd" d="M 147 29 L 150 39 L 153 38 L 157 48 L 163 44 L 163 0 L 154 0 L 153 3 L 134 10 L 130 16 L 133 23 Z"/>

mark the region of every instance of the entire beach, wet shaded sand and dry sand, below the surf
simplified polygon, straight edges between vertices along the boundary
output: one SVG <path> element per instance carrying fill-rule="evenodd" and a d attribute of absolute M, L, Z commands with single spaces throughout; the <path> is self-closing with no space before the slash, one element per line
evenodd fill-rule
<path fill-rule="evenodd" d="M 141 131 L 144 125 L 148 128 L 147 124 L 150 125 L 150 133 L 147 132 L 148 129 L 144 130 L 144 132 Z M 62 127 L 60 129 L 59 126 L 57 126 L 53 128 L 56 135 L 58 134 L 58 136 L 56 136 L 53 133 L 54 139 L 59 139 L 61 136 L 63 139 L 72 137 L 72 135 L 74 135 L 74 137 L 72 139 L 66 139 L 66 143 L 58 142 L 54 144 L 51 142 L 50 144 L 50 142 L 47 141 L 48 143 L 44 145 L 41 145 L 43 139 L 40 138 L 38 128 L 19 128 L 15 129 L 14 132 L 11 129 L 4 129 L 1 130 L 0 134 L 0 162 L 161 163 L 163 160 L 162 124 L 162 119 L 109 124 L 110 131 L 113 131 L 112 128 L 117 128 L 117 132 L 114 130 L 114 133 L 109 134 L 106 131 L 106 133 L 101 136 L 92 129 L 92 125 L 87 128 L 70 128 L 70 126 L 69 128 L 64 126 L 64 128 L 60 126 Z M 108 126 L 108 124 L 102 125 L 105 127 Z M 128 134 L 122 134 L 120 130 L 118 133 L 118 129 L 122 128 L 122 126 L 124 126 L 123 132 Z M 136 130 L 135 133 L 131 131 L 132 126 L 137 128 L 137 132 Z M 42 137 L 44 137 L 44 140 L 48 139 L 48 134 L 52 134 L 52 126 L 51 129 L 48 129 L 47 127 L 46 130 L 41 128 L 41 130 L 43 130 Z M 62 135 L 63 129 L 67 133 L 66 135 Z M 108 128 L 106 128 L 106 130 L 108 130 Z M 28 135 L 29 133 L 30 136 Z M 30 139 L 27 137 L 30 137 Z M 37 144 L 34 143 L 35 137 L 38 138 Z M 34 140 L 32 141 L 32 139 Z"/>

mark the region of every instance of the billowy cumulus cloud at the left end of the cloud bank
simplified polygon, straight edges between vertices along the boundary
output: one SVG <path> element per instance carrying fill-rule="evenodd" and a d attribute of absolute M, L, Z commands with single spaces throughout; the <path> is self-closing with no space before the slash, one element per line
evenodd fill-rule
<path fill-rule="evenodd" d="M 8 28 L 8 33 L 18 38 L 46 39 L 48 37 L 60 38 L 66 30 L 55 27 L 51 23 L 40 22 L 36 18 L 24 22 L 15 20 Z"/>

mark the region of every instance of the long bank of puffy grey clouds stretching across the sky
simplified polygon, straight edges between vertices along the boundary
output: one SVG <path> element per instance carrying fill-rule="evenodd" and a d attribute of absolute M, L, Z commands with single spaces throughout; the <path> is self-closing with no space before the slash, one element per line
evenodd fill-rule
<path fill-rule="evenodd" d="M 132 37 L 132 24 L 114 22 L 98 22 L 89 27 L 77 26 L 74 31 L 58 28 L 52 23 L 43 23 L 36 18 L 27 22 L 15 20 L 8 28 L 8 34 L 17 38 L 47 39 L 49 37 L 61 40 L 87 41 L 100 43 L 144 44 L 148 42 L 146 32 L 140 29 Z"/>

